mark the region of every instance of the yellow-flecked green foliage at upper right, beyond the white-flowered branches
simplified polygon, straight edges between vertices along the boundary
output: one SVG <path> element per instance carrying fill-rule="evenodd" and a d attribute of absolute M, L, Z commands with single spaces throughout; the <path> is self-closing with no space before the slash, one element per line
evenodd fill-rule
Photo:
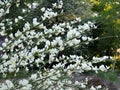
<path fill-rule="evenodd" d="M 94 55 L 114 55 L 115 50 L 120 47 L 120 1 L 100 0 L 100 4 L 95 4 L 93 11 L 98 13 L 94 18 L 97 22 L 97 30 L 93 30 L 93 37 L 99 39 L 90 44 L 90 52 Z"/>

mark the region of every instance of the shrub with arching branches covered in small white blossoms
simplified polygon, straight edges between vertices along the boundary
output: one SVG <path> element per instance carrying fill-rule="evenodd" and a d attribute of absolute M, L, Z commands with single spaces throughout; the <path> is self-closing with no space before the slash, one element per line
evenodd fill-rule
<path fill-rule="evenodd" d="M 87 81 L 72 81 L 74 72 L 86 71 L 106 72 L 109 67 L 93 66 L 108 59 L 107 56 L 88 60 L 82 56 L 81 48 L 89 42 L 97 40 L 90 35 L 91 29 L 96 29 L 95 22 L 82 22 L 80 17 L 71 21 L 53 21 L 64 13 L 63 2 L 52 3 L 52 8 L 41 8 L 42 15 L 35 17 L 33 12 L 39 5 L 37 1 L 11 0 L 0 1 L 0 37 L 1 57 L 0 73 L 6 77 L 8 73 L 20 72 L 36 67 L 37 72 L 23 80 L 6 80 L 1 83 L 2 90 L 72 90 L 90 88 L 95 90 L 101 86 L 87 87 Z M 12 14 L 11 7 L 22 13 Z M 25 8 L 19 9 L 19 7 Z M 55 12 L 54 12 L 55 10 Z M 57 12 L 57 10 L 59 12 Z M 9 16 L 11 13 L 13 17 Z M 14 12 L 13 12 L 14 13 Z M 31 15 L 32 14 L 32 15 Z M 28 17 L 28 16 L 29 17 Z M 7 18 L 9 16 L 9 18 Z M 50 23 L 51 22 L 51 23 Z M 112 59 L 112 57 L 110 57 Z M 50 67 L 51 66 L 51 67 Z M 15 77 L 15 76 L 14 76 Z"/>

